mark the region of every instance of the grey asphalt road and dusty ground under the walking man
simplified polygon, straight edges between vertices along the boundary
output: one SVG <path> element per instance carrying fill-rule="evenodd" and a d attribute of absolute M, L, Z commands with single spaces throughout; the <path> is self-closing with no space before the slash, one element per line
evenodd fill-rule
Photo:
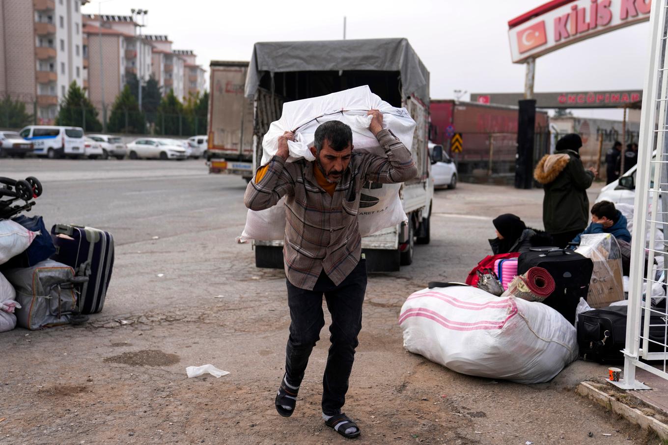
<path fill-rule="evenodd" d="M 327 332 L 295 415 L 277 416 L 289 325 L 282 271 L 256 269 L 239 245 L 241 178 L 201 161 L 1 160 L 0 176 L 37 176 L 35 214 L 116 239 L 102 313 L 80 327 L 0 334 L 0 443 L 347 443 L 320 418 Z M 591 190 L 595 195 L 597 190 Z M 578 361 L 523 386 L 456 374 L 403 349 L 397 315 L 428 281 L 463 281 L 488 254 L 492 218 L 542 227 L 541 190 L 459 184 L 434 198 L 432 243 L 413 265 L 369 277 L 346 412 L 370 444 L 654 443 L 576 396 L 606 367 Z M 231 374 L 188 379 L 212 363 Z M 589 437 L 592 432 L 593 437 Z M 603 436 L 612 434 L 612 436 Z"/>

